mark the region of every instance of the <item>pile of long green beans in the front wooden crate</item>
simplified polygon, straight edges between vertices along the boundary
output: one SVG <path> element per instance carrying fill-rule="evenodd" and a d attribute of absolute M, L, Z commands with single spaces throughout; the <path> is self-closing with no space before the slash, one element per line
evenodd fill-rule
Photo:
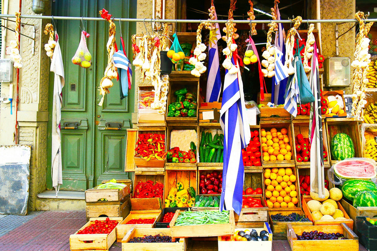
<path fill-rule="evenodd" d="M 184 211 L 179 214 L 175 226 L 229 223 L 229 211 Z"/>

